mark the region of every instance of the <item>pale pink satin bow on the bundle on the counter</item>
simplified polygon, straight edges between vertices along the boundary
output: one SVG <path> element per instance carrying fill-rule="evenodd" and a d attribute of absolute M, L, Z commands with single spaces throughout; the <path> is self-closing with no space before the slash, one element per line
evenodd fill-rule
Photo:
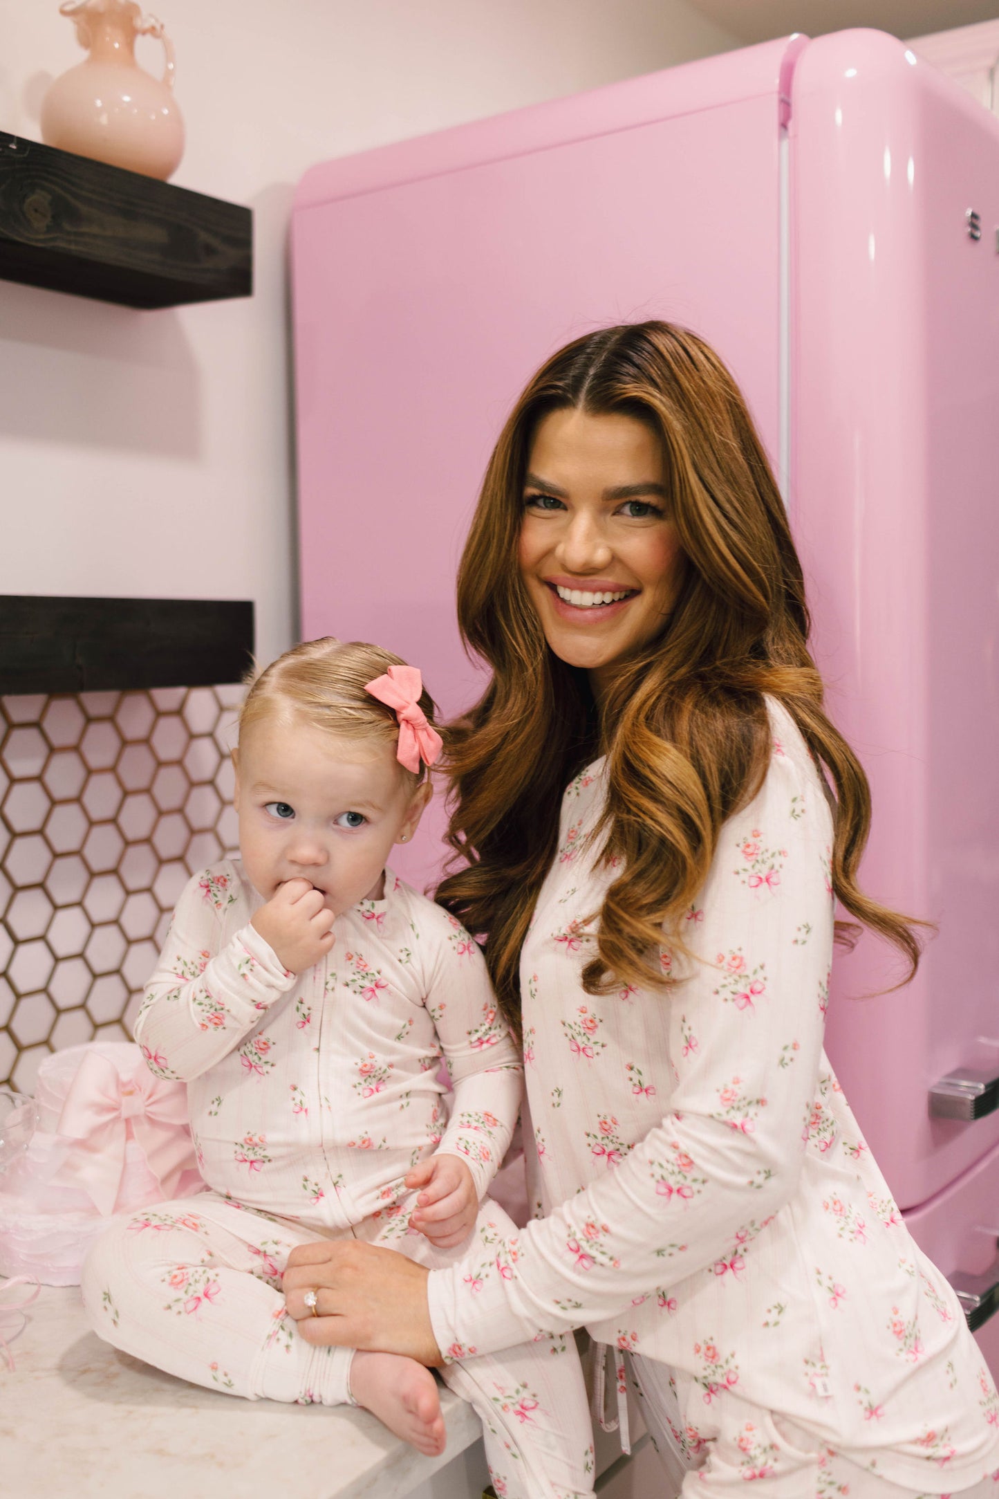
<path fill-rule="evenodd" d="M 184 1084 L 154 1078 L 145 1066 L 121 1078 L 114 1063 L 96 1051 L 84 1057 L 69 1085 L 57 1132 L 76 1141 L 61 1180 L 81 1186 L 102 1217 L 114 1213 L 129 1133 L 165 1196 L 196 1165 Z"/>

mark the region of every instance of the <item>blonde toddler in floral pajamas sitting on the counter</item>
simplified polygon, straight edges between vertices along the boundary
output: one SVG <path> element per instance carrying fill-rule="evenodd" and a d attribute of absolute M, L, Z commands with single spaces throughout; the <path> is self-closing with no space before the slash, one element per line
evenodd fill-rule
<path fill-rule="evenodd" d="M 431 714 L 418 670 L 333 639 L 252 685 L 234 752 L 240 860 L 189 883 L 135 1027 L 156 1076 L 189 1084 L 210 1190 L 115 1219 L 82 1294 L 100 1337 L 159 1369 L 250 1400 L 362 1405 L 437 1454 L 431 1372 L 313 1348 L 282 1295 L 288 1255 L 319 1237 L 439 1268 L 472 1232 L 484 1264 L 515 1232 L 481 1201 L 520 1106 L 515 1045 L 475 941 L 385 868 L 431 794 Z M 322 1292 L 313 1303 L 322 1316 Z M 593 1493 L 572 1339 L 442 1376 L 482 1418 L 499 1493 Z"/>

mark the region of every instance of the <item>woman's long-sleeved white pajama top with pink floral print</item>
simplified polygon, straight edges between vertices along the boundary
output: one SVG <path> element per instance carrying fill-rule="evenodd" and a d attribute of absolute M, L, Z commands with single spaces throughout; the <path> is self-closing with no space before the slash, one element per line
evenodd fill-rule
<path fill-rule="evenodd" d="M 434 1333 L 461 1357 L 586 1325 L 672 1366 L 689 1453 L 731 1391 L 903 1487 L 968 1487 L 999 1466 L 999 1397 L 822 1051 L 831 814 L 768 708 L 765 781 L 687 913 L 696 961 L 661 952 L 669 995 L 583 991 L 604 761 L 566 790 L 521 959 L 544 1216 L 431 1273 Z"/>

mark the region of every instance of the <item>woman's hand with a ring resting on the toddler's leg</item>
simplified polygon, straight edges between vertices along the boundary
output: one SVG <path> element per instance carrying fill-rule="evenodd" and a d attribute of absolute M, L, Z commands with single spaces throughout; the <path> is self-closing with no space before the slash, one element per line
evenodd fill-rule
<path fill-rule="evenodd" d="M 433 1369 L 443 1358 L 427 1309 L 428 1273 L 394 1249 L 319 1240 L 288 1256 L 285 1300 L 307 1343 L 407 1354 Z M 316 1316 L 309 1289 L 318 1292 Z"/>

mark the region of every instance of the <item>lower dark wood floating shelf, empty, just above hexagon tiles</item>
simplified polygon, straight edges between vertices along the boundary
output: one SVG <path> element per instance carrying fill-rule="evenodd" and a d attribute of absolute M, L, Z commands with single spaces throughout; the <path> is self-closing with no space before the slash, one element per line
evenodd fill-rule
<path fill-rule="evenodd" d="M 105 693 L 240 682 L 253 604 L 0 595 L 0 693 Z"/>

